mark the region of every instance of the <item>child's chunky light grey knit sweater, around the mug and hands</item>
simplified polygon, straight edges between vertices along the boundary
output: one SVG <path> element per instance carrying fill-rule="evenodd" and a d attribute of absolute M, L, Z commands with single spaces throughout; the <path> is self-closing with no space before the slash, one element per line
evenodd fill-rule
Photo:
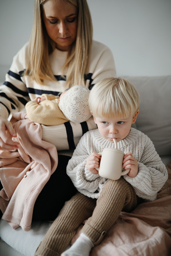
<path fill-rule="evenodd" d="M 114 143 L 103 138 L 98 129 L 89 131 L 80 139 L 67 165 L 67 175 L 77 190 L 96 199 L 108 180 L 92 174 L 87 169 L 86 160 L 91 153 L 100 153 L 104 148 L 114 148 Z M 155 200 L 157 192 L 168 179 L 168 172 L 152 141 L 144 133 L 131 128 L 128 136 L 118 142 L 118 149 L 125 154 L 133 153 L 138 161 L 138 175 L 134 178 L 125 175 L 125 180 L 134 187 L 136 195 L 148 201 Z"/>

